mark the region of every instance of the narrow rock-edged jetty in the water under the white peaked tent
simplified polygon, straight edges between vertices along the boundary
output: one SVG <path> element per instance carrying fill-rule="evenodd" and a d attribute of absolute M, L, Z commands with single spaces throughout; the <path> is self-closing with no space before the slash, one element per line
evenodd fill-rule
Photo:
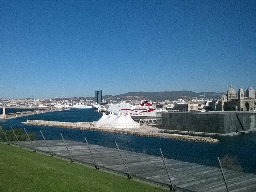
<path fill-rule="evenodd" d="M 47 126 L 47 127 L 59 127 L 65 129 L 77 129 L 77 130 L 87 130 L 87 131 L 100 131 L 100 132 L 110 132 L 110 133 L 123 133 L 123 134 L 130 134 L 130 135 L 137 135 L 141 137 L 159 137 L 159 138 L 166 138 L 166 139 L 176 139 L 176 140 L 187 140 L 187 141 L 195 141 L 195 142 L 206 142 L 206 143 L 217 143 L 219 140 L 213 139 L 210 137 L 200 137 L 200 136 L 192 136 L 192 135 L 181 135 L 181 134 L 172 134 L 172 133 L 159 133 L 161 129 L 151 126 L 141 126 L 140 128 L 134 128 L 129 130 L 124 129 L 111 129 L 105 127 L 95 127 L 93 125 L 84 125 L 84 126 L 77 126 L 77 125 L 49 125 L 44 123 L 27 123 L 22 122 L 23 124 L 30 124 L 30 125 L 39 125 L 39 126 Z"/>

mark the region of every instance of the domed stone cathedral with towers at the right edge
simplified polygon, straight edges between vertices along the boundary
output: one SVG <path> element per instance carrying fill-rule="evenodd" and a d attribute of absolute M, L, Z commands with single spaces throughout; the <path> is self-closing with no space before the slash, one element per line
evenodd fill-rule
<path fill-rule="evenodd" d="M 255 91 L 249 87 L 244 97 L 244 89 L 240 88 L 238 93 L 230 85 L 227 95 L 221 95 L 220 102 L 216 106 L 218 111 L 255 111 Z"/>

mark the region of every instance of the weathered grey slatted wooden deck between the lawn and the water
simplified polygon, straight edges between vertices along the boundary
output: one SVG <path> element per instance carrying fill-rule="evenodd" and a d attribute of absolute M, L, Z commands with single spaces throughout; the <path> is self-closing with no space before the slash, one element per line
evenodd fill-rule
<path fill-rule="evenodd" d="M 114 142 L 114 141 L 113 141 Z M 19 145 L 18 142 L 12 142 Z M 65 140 L 38 140 L 32 141 L 37 151 L 47 154 L 52 153 L 65 159 L 94 166 L 103 170 L 116 172 L 122 175 L 130 173 L 132 178 L 145 180 L 162 186 L 171 185 L 163 159 L 159 156 L 151 156 L 120 150 L 124 163 L 116 148 L 108 148 L 89 144 L 95 162 L 86 143 Z M 48 149 L 49 146 L 50 150 Z M 32 148 L 29 141 L 20 141 L 20 145 Z M 163 151 L 164 154 L 164 151 Z M 227 191 L 221 171 L 217 167 L 182 162 L 164 158 L 165 164 L 176 191 L 219 192 Z M 217 162 L 217 159 L 216 159 Z M 256 191 L 256 175 L 233 170 L 224 170 L 229 191 Z"/>

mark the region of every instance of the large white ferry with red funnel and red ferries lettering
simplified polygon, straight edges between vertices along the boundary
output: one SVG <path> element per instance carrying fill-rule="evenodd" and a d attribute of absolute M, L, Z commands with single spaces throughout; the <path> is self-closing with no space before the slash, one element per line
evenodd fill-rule
<path fill-rule="evenodd" d="M 147 117 L 156 117 L 156 112 L 167 112 L 167 110 L 162 108 L 153 108 L 148 101 L 145 101 L 145 103 L 142 103 L 140 106 L 134 106 L 124 102 L 124 100 L 117 104 L 111 104 L 108 107 L 108 111 L 114 114 L 123 113 L 124 115 L 130 114 L 131 116 Z"/>

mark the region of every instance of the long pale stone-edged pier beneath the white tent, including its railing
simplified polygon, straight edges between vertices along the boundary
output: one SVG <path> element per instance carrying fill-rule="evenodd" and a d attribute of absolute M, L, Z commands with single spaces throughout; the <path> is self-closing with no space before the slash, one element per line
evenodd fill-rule
<path fill-rule="evenodd" d="M 135 129 L 112 129 L 105 127 L 96 127 L 93 126 L 91 122 L 59 122 L 59 121 L 44 121 L 44 120 L 27 120 L 27 122 L 22 122 L 22 124 L 32 124 L 32 125 L 41 125 L 41 126 L 51 126 L 51 127 L 61 127 L 68 129 L 79 129 L 79 130 L 90 130 L 90 131 L 100 131 L 100 132 L 110 132 L 110 133 L 124 133 L 137 135 L 142 137 L 160 137 L 167 139 L 176 139 L 176 140 L 188 140 L 195 142 L 208 142 L 208 143 L 217 143 L 219 140 L 213 139 L 210 137 L 199 137 L 191 135 L 180 135 L 180 134 L 171 134 L 171 133 L 162 133 L 156 127 L 151 126 L 142 126 L 141 128 Z"/>

